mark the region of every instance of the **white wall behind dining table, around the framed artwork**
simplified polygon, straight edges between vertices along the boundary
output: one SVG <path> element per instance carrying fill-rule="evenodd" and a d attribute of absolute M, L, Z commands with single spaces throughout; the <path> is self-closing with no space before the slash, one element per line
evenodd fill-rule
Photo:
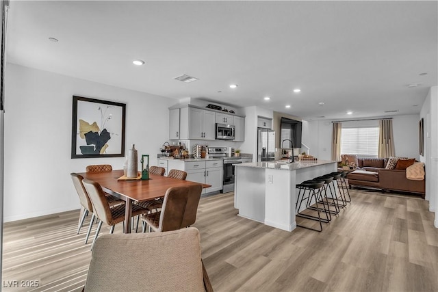
<path fill-rule="evenodd" d="M 156 164 L 175 99 L 14 64 L 5 76 L 5 222 L 79 209 L 70 172 L 103 163 L 123 168 L 123 157 L 70 159 L 73 95 L 126 103 L 125 148 L 136 144 Z"/>

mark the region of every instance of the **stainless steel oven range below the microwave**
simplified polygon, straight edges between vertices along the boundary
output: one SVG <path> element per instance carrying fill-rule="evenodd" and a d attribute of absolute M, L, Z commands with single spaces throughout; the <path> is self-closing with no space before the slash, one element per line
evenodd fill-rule
<path fill-rule="evenodd" d="M 234 191 L 234 166 L 235 163 L 242 163 L 242 158 L 240 157 L 229 157 L 229 147 L 209 147 L 208 155 L 211 158 L 222 158 L 224 159 L 224 174 L 223 174 L 223 189 L 222 193 L 228 193 L 229 191 Z"/>

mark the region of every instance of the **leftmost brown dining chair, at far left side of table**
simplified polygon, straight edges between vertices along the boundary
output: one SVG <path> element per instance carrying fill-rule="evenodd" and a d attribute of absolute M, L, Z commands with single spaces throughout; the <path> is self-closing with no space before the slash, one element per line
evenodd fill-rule
<path fill-rule="evenodd" d="M 90 224 L 88 226 L 88 232 L 87 232 L 87 235 L 85 238 L 85 244 L 87 244 L 88 237 L 90 237 L 90 232 L 91 232 L 91 228 L 93 226 L 94 217 L 95 217 L 94 213 L 93 213 L 92 203 L 91 203 L 90 197 L 87 194 L 85 187 L 83 187 L 83 183 L 82 183 L 83 176 L 81 176 L 80 174 L 75 174 L 74 172 L 71 173 L 70 176 L 71 176 L 71 179 L 73 181 L 73 185 L 75 185 L 77 196 L 79 196 L 79 202 L 81 203 L 81 215 L 79 215 L 79 224 L 77 227 L 76 234 L 79 234 L 79 231 L 81 230 L 81 227 L 83 225 L 85 217 L 87 217 L 88 213 L 92 213 Z M 116 198 L 115 196 L 107 195 L 107 196 L 105 196 L 105 199 L 107 200 L 110 207 L 114 207 L 114 206 L 119 205 L 119 204 L 123 204 L 123 206 L 125 206 L 125 201 L 121 200 L 119 198 Z"/>

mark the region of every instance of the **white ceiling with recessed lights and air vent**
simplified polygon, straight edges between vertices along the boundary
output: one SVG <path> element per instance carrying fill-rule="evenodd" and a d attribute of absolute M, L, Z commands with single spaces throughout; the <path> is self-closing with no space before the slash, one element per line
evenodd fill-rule
<path fill-rule="evenodd" d="M 437 11 L 437 1 L 11 1 L 7 58 L 305 120 L 418 114 L 437 85 Z"/>

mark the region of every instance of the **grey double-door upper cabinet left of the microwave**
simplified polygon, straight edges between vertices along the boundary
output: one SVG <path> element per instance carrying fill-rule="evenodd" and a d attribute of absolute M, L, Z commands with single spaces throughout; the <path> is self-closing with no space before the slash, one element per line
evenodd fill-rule
<path fill-rule="evenodd" d="M 216 116 L 213 111 L 196 107 L 181 109 L 179 139 L 214 140 Z"/>

